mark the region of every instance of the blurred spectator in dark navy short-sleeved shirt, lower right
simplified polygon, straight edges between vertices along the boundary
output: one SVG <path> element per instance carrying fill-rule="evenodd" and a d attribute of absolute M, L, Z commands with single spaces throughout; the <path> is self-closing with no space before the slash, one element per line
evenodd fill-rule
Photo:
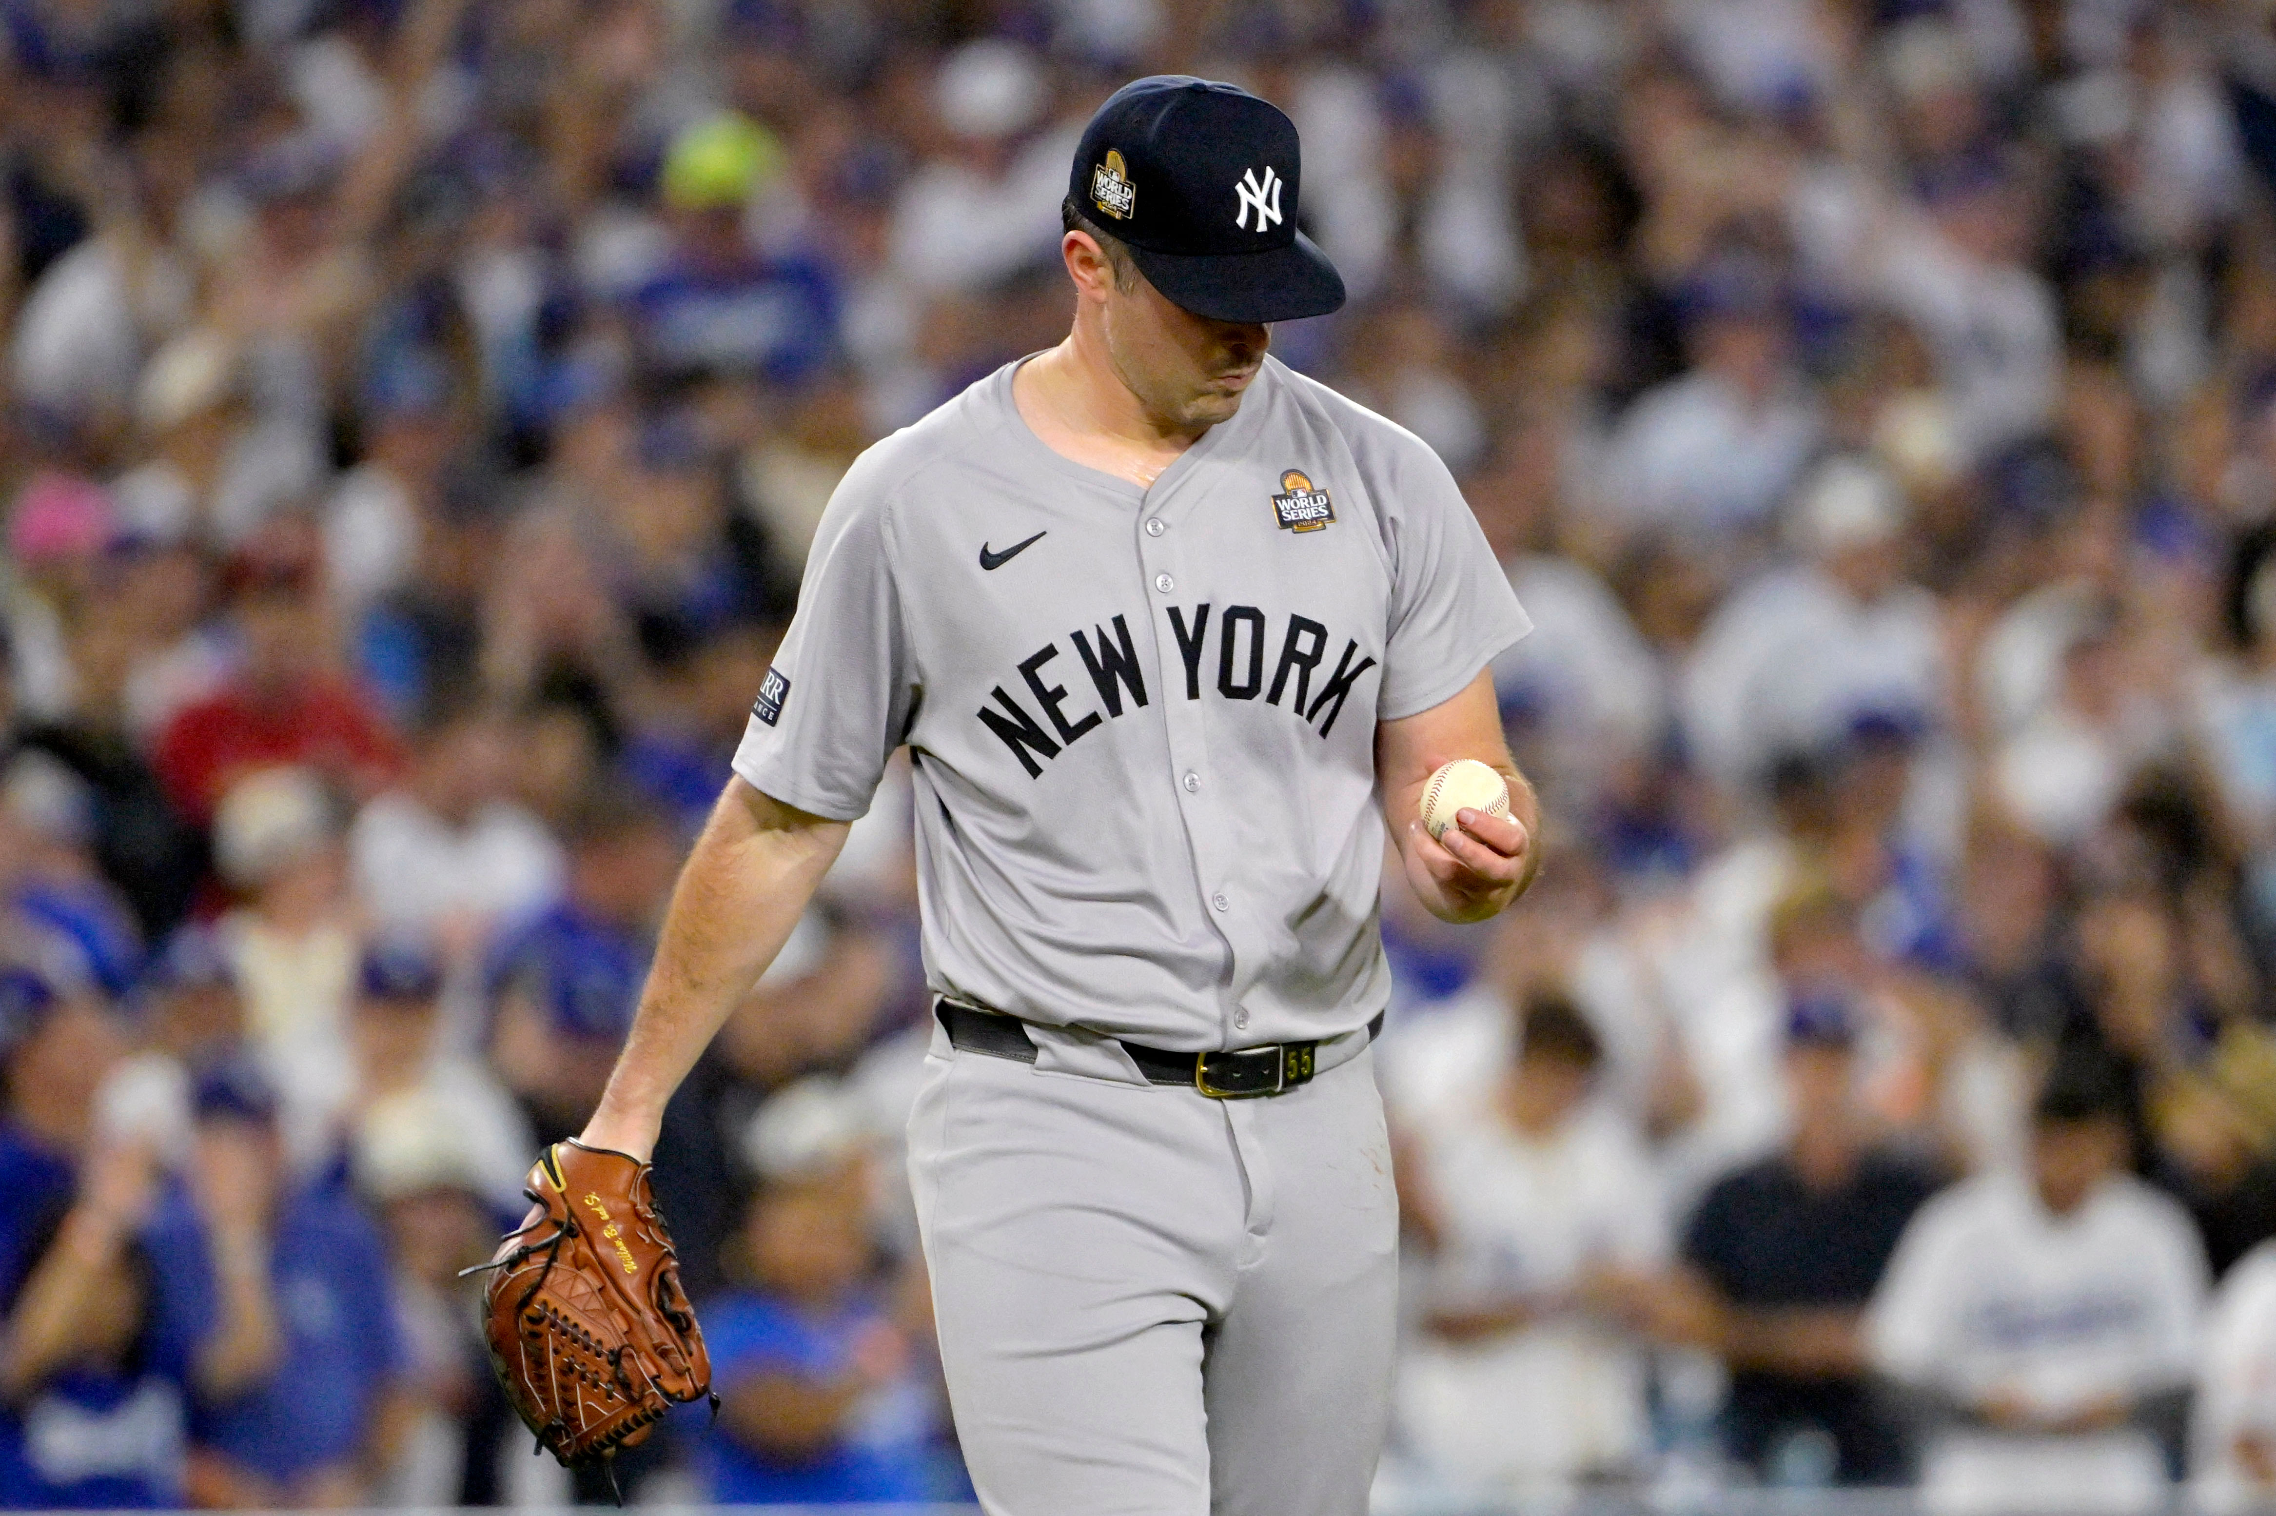
<path fill-rule="evenodd" d="M 1718 1179 L 1684 1231 L 1661 1329 L 1732 1368 L 1723 1445 L 1771 1484 L 1903 1484 L 1905 1427 L 1871 1382 L 1864 1307 L 1937 1179 L 1873 1140 L 1857 1011 L 1787 1011 L 1784 1147 Z"/>

